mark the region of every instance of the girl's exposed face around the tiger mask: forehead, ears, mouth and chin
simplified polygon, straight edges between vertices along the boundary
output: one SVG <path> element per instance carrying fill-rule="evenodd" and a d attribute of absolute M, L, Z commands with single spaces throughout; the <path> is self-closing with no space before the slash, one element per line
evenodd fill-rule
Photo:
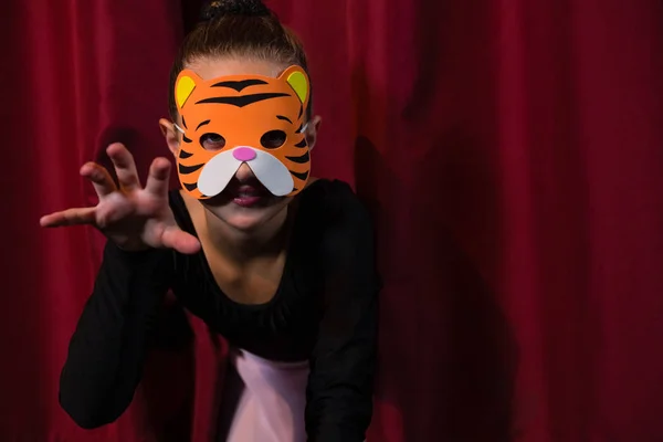
<path fill-rule="evenodd" d="M 193 71 L 203 81 L 218 78 L 231 75 L 262 75 L 277 77 L 286 66 L 278 64 L 257 61 L 251 59 L 201 59 L 186 66 Z M 183 124 L 178 116 L 175 122 L 179 127 Z M 309 148 L 313 148 L 316 139 L 316 131 L 319 125 L 319 117 L 312 118 L 306 126 L 306 139 Z M 182 143 L 181 134 L 169 122 L 161 122 L 164 133 L 170 150 L 173 155 L 179 154 L 180 143 Z M 206 149 L 219 149 L 223 146 L 223 139 L 208 137 L 203 143 Z M 201 200 L 206 208 L 217 218 L 221 219 L 231 227 L 251 231 L 266 224 L 270 220 L 282 213 L 287 204 L 292 201 L 290 197 L 275 197 L 255 177 L 252 169 L 242 164 L 236 170 L 234 177 L 228 183 L 225 189 L 218 196 Z"/>

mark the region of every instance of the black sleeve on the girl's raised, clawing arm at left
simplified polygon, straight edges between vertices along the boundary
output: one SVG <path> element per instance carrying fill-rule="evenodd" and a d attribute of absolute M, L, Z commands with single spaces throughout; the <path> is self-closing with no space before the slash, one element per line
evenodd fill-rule
<path fill-rule="evenodd" d="M 110 423 L 131 402 L 149 332 L 168 291 L 172 253 L 125 252 L 106 243 L 60 377 L 60 404 L 80 427 Z"/>

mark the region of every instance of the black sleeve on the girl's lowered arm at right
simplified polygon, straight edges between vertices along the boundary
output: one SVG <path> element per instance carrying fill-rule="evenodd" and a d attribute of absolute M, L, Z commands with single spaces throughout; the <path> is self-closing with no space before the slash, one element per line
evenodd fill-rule
<path fill-rule="evenodd" d="M 370 219 L 348 199 L 323 241 L 325 305 L 306 403 L 315 442 L 361 442 L 372 415 L 380 285 Z"/>

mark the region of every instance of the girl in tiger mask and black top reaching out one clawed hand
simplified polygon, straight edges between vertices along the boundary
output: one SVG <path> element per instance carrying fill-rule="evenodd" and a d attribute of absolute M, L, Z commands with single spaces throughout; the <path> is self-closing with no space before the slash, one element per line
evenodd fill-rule
<path fill-rule="evenodd" d="M 261 1 L 211 2 L 173 64 L 171 122 L 159 122 L 183 189 L 168 191 L 165 158 L 141 187 L 114 144 L 118 186 L 88 162 L 81 175 L 98 204 L 42 218 L 108 239 L 61 376 L 61 404 L 78 425 L 113 422 L 129 406 L 172 290 L 232 348 L 243 390 L 223 403 L 220 441 L 364 440 L 379 292 L 372 231 L 349 186 L 308 178 L 320 118 L 306 69 L 298 39 Z M 233 141 L 267 124 L 278 129 Z"/>

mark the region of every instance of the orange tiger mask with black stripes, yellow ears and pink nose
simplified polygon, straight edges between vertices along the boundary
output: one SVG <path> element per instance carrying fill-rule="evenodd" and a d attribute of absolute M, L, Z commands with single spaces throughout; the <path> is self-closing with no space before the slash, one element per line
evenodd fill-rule
<path fill-rule="evenodd" d="M 245 162 L 273 194 L 302 191 L 311 171 L 303 130 L 309 88 L 299 66 L 286 69 L 278 78 L 233 75 L 204 81 L 182 71 L 175 101 L 183 126 L 178 127 L 183 143 L 177 166 L 185 190 L 198 199 L 214 197 Z"/>

